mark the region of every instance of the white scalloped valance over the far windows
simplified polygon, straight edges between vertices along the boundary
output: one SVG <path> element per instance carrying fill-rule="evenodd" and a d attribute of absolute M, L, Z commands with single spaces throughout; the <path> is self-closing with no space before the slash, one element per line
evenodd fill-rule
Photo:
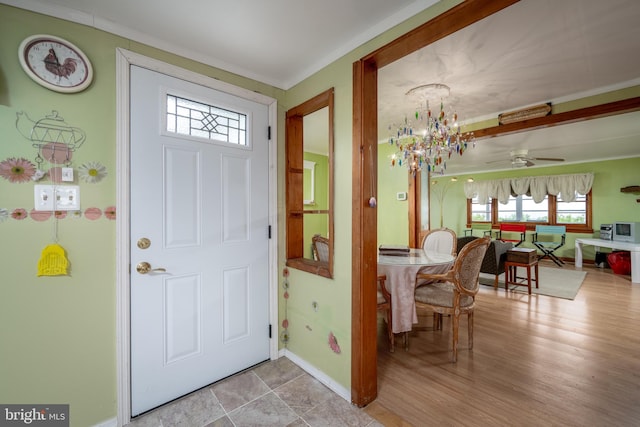
<path fill-rule="evenodd" d="M 593 173 L 572 175 L 529 176 L 504 178 L 489 181 L 464 183 L 464 193 L 468 199 L 478 197 L 478 203 L 485 204 L 489 199 L 498 199 L 502 204 L 509 202 L 509 196 L 531 195 L 533 201 L 540 203 L 547 194 L 558 196 L 564 202 L 573 202 L 576 193 L 585 195 L 591 191 Z"/>

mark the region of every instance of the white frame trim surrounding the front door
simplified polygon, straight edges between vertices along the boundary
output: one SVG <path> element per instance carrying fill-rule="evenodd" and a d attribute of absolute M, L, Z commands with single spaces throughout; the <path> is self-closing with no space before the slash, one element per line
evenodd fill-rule
<path fill-rule="evenodd" d="M 129 340 L 131 319 L 129 309 L 130 287 L 130 120 L 129 83 L 131 65 L 137 65 L 178 79 L 190 81 L 211 89 L 245 98 L 268 107 L 268 122 L 271 128 L 269 140 L 269 322 L 277 330 L 278 325 L 278 191 L 277 191 L 277 143 L 278 104 L 274 98 L 234 86 L 193 71 L 140 55 L 126 49 L 116 49 L 116 403 L 117 424 L 131 421 L 131 346 Z M 265 130 L 266 131 L 266 130 Z M 273 334 L 269 344 L 271 359 L 278 357 L 278 334 Z"/>

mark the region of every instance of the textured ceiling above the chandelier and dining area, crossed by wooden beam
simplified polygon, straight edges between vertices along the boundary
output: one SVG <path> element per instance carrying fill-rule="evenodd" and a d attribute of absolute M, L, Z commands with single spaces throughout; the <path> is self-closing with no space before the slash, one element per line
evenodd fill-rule
<path fill-rule="evenodd" d="M 388 140 L 389 124 L 414 116 L 415 101 L 405 94 L 422 84 L 448 85 L 445 108 L 463 123 L 638 85 L 638 22 L 636 0 L 514 4 L 380 69 L 379 139 Z M 516 150 L 565 159 L 560 164 L 638 157 L 640 112 L 478 140 L 447 162 L 445 174 L 510 169 Z"/>

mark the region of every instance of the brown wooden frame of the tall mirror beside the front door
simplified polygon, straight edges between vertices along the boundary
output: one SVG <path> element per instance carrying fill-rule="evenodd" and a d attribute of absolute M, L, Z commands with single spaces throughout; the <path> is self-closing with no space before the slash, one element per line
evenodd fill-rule
<path fill-rule="evenodd" d="M 328 107 L 329 155 L 329 261 L 304 258 L 304 116 Z M 334 88 L 328 89 L 286 113 L 285 124 L 285 209 L 286 209 L 286 265 L 319 276 L 333 278 L 333 145 L 334 145 Z"/>

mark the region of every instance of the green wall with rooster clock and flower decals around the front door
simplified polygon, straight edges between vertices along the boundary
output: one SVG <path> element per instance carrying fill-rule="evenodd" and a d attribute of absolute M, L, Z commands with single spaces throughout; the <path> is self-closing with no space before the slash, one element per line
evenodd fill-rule
<path fill-rule="evenodd" d="M 93 84 L 78 94 L 60 94 L 33 82 L 18 62 L 20 42 L 33 34 L 56 35 L 83 49 L 95 70 Z M 41 251 L 55 239 L 55 221 L 11 216 L 16 209 L 31 211 L 34 182 L 11 183 L 0 177 L 0 402 L 68 403 L 72 426 L 95 425 L 117 413 L 116 227 L 104 211 L 116 201 L 118 47 L 276 99 L 284 97 L 282 90 L 130 40 L 0 5 L 0 162 L 12 157 L 35 162 L 36 149 L 16 129 L 17 112 L 37 121 L 56 110 L 68 125 L 86 133 L 86 141 L 73 153 L 74 168 L 100 162 L 107 170 L 94 184 L 76 177 L 82 209 L 95 207 L 103 214 L 95 220 L 82 215 L 57 221 L 58 243 L 71 267 L 68 276 L 55 277 L 36 276 Z M 279 110 L 280 129 L 283 116 Z M 281 132 L 279 152 L 283 146 Z M 284 194 L 282 186 L 279 193 Z M 283 235 L 279 238 L 284 241 Z"/>

